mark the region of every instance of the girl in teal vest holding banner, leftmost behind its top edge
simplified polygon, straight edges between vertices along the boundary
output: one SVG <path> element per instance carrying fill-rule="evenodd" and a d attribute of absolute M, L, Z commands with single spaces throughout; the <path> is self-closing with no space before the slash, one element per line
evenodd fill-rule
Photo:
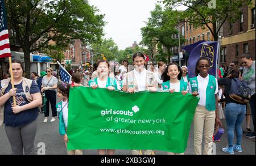
<path fill-rule="evenodd" d="M 119 83 L 116 79 L 109 77 L 110 65 L 108 61 L 101 60 L 98 62 L 97 72 L 98 78 L 89 80 L 89 87 L 94 90 L 96 88 L 107 88 L 109 91 L 121 90 Z M 114 155 L 115 150 L 98 150 L 99 155 Z"/>

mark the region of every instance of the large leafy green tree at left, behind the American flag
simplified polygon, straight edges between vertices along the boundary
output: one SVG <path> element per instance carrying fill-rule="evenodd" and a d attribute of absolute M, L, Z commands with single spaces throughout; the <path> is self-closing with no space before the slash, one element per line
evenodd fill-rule
<path fill-rule="evenodd" d="M 88 0 L 9 0 L 6 10 L 10 40 L 15 39 L 23 49 L 27 77 L 30 53 L 48 48 L 49 41 L 64 48 L 71 39 L 89 44 L 103 35 L 104 15 Z"/>

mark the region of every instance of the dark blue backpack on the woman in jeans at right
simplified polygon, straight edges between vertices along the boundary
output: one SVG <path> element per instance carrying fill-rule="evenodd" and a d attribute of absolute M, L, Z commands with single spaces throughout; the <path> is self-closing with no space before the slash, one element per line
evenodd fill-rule
<path fill-rule="evenodd" d="M 246 104 L 249 102 L 251 97 L 251 89 L 247 86 L 244 80 L 233 78 L 231 80 L 231 86 L 228 95 L 232 100 L 241 104 Z"/>

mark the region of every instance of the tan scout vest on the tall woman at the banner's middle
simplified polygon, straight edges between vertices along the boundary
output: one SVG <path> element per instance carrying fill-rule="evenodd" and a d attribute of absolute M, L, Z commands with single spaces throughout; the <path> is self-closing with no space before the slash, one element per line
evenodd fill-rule
<path fill-rule="evenodd" d="M 144 69 L 146 70 L 146 69 Z M 157 87 L 158 82 L 156 81 L 155 74 L 151 71 L 146 70 L 146 91 L 149 91 L 150 87 Z M 138 91 L 137 80 L 134 75 L 134 71 L 130 71 L 126 73 L 126 80 L 123 80 L 123 84 L 127 86 L 127 89 L 135 87 L 136 91 Z"/>

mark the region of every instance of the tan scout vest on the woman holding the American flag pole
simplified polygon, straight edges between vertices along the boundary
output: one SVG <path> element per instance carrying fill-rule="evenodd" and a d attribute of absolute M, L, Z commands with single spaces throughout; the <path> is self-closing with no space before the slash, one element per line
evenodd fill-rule
<path fill-rule="evenodd" d="M 0 90 L 0 96 L 3 96 L 3 93 L 5 92 L 6 88 L 9 86 L 11 78 L 7 78 L 7 79 L 3 79 L 1 80 L 1 90 Z M 32 84 L 32 80 L 31 79 L 27 79 L 22 77 L 22 87 L 23 87 L 23 91 L 27 97 L 27 100 L 29 102 L 32 101 L 32 96 L 30 94 L 30 87 Z M 28 87 L 28 91 L 26 92 L 26 87 Z M 4 109 L 5 109 L 5 104 L 3 104 L 2 106 L 0 106 L 0 126 L 2 126 L 3 124 L 3 113 L 4 113 Z"/>

